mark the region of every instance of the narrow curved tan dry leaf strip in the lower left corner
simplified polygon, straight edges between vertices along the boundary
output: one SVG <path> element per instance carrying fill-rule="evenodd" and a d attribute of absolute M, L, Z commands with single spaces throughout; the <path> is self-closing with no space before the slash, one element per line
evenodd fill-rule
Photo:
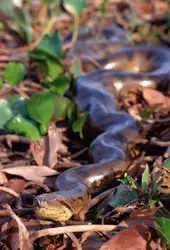
<path fill-rule="evenodd" d="M 6 205 L 6 209 L 11 214 L 11 217 L 16 220 L 19 229 L 19 248 L 20 250 L 32 250 L 33 245 L 29 239 L 28 231 L 21 221 L 21 219 L 12 211 L 9 205 Z"/>

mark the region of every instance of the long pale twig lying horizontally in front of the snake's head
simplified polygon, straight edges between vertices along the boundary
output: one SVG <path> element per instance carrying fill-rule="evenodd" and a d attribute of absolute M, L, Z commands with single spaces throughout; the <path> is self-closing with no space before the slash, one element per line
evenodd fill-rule
<path fill-rule="evenodd" d="M 76 226 L 66 226 L 66 227 L 56 227 L 56 228 L 48 228 L 42 229 L 37 232 L 34 232 L 30 236 L 30 241 L 33 243 L 37 238 L 41 238 L 43 236 L 54 236 L 65 233 L 78 233 L 78 232 L 110 232 L 115 230 L 117 226 L 115 225 L 76 225 Z"/>

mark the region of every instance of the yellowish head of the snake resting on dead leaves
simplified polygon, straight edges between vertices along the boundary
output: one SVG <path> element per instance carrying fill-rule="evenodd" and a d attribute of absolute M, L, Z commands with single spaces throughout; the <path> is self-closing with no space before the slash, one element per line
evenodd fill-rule
<path fill-rule="evenodd" d="M 69 220 L 73 215 L 71 208 L 64 202 L 62 196 L 56 197 L 55 192 L 37 196 L 33 206 L 35 214 L 43 219 L 62 222 Z"/>

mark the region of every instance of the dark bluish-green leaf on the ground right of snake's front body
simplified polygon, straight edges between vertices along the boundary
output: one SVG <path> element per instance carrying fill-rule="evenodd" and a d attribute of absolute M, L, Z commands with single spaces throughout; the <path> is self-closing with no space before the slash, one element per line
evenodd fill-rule
<path fill-rule="evenodd" d="M 119 185 L 118 190 L 112 196 L 111 200 L 109 201 L 109 205 L 113 208 L 118 206 L 126 206 L 130 202 L 134 200 L 138 200 L 139 195 L 136 190 L 132 189 L 128 185 Z"/>

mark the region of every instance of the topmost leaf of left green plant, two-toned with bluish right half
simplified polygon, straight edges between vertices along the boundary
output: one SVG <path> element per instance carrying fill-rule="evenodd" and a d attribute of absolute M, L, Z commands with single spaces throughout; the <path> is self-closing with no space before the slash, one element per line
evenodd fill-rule
<path fill-rule="evenodd" d="M 36 48 L 36 51 L 55 59 L 61 58 L 63 52 L 59 31 L 55 30 L 51 34 L 46 35 Z"/>

